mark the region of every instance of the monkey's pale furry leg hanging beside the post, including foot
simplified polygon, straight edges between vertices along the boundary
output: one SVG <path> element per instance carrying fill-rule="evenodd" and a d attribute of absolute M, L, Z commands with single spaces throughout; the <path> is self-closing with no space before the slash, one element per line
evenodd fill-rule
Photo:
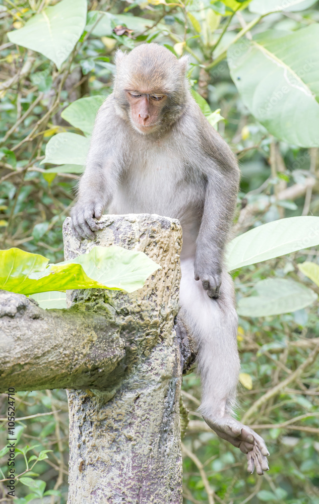
<path fill-rule="evenodd" d="M 198 350 L 202 382 L 200 411 L 206 423 L 223 439 L 247 454 L 248 471 L 268 470 L 269 455 L 261 436 L 232 418 L 239 374 L 237 314 L 233 282 L 222 273 L 218 299 L 212 299 L 202 282 L 194 279 L 194 259 L 181 261 L 179 317 L 193 336 Z"/>

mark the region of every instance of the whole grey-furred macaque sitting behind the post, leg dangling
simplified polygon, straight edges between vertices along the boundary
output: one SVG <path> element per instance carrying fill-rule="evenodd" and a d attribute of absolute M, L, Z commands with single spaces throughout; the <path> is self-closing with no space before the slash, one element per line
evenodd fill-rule
<path fill-rule="evenodd" d="M 79 239 L 96 219 L 148 213 L 178 219 L 183 233 L 178 318 L 198 350 L 200 411 L 223 439 L 247 455 L 248 471 L 268 470 L 262 437 L 232 417 L 239 374 L 234 287 L 224 266 L 239 170 L 230 148 L 188 89 L 188 58 L 158 44 L 117 51 L 113 93 L 94 125 L 78 201 Z"/>

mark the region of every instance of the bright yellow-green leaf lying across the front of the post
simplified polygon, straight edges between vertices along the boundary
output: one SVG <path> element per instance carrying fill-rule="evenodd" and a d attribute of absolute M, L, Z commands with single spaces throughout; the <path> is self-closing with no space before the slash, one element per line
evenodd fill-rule
<path fill-rule="evenodd" d="M 48 259 L 19 248 L 0 251 L 0 289 L 34 294 L 67 289 L 122 289 L 133 292 L 160 268 L 143 252 L 95 246 L 88 254 L 46 267 Z"/>

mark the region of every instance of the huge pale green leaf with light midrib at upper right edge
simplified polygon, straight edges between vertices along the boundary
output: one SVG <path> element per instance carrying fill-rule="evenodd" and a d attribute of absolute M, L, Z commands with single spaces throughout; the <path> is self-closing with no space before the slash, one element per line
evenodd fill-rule
<path fill-rule="evenodd" d="M 319 146 L 319 25 L 239 40 L 227 52 L 231 77 L 250 112 L 277 138 Z"/>

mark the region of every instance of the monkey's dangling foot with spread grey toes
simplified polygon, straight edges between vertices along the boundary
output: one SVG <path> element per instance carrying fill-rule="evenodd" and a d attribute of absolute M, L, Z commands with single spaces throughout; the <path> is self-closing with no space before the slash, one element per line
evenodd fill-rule
<path fill-rule="evenodd" d="M 266 443 L 254 430 L 230 416 L 203 418 L 219 437 L 226 439 L 226 441 L 247 455 L 248 472 L 253 473 L 255 467 L 257 474 L 260 475 L 264 474 L 264 471 L 269 470 L 267 461 L 269 452 Z"/>

